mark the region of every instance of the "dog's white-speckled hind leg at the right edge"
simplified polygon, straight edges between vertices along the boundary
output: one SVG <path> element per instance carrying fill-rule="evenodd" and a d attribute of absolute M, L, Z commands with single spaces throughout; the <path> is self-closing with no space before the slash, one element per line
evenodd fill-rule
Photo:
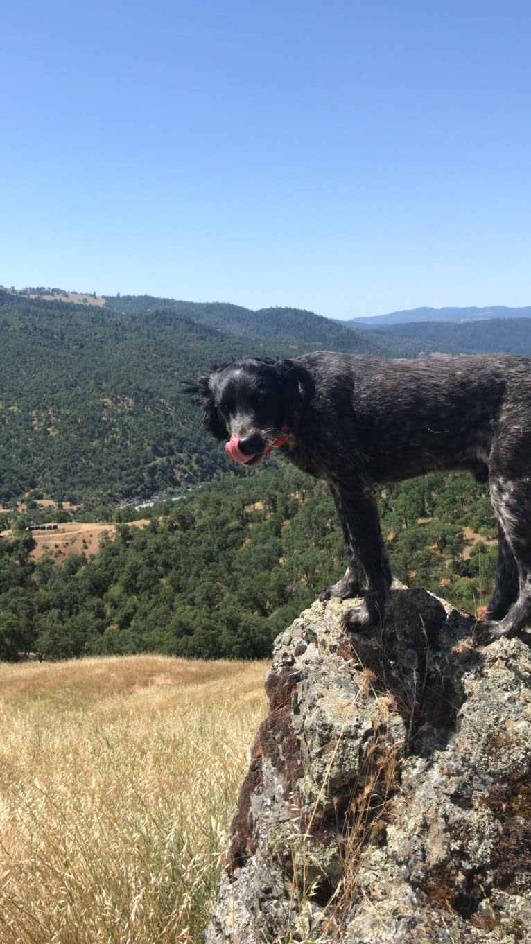
<path fill-rule="evenodd" d="M 524 626 L 531 626 L 531 482 L 528 476 L 504 479 L 498 475 L 490 480 L 490 495 L 518 572 L 516 602 L 500 622 L 488 626 L 490 637 L 499 639 L 515 636 Z M 496 580 L 498 598 L 495 591 L 493 618 L 496 608 L 502 615 L 502 601 L 509 600 L 513 592 L 514 578 L 510 566 L 505 569 L 504 576 L 508 578 L 508 584 L 500 582 L 498 577 Z"/>

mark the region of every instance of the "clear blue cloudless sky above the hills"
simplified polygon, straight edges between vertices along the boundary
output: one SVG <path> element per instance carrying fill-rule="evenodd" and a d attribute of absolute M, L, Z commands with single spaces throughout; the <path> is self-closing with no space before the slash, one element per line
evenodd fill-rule
<path fill-rule="evenodd" d="M 339 318 L 531 304 L 527 0 L 0 22 L 0 283 Z"/>

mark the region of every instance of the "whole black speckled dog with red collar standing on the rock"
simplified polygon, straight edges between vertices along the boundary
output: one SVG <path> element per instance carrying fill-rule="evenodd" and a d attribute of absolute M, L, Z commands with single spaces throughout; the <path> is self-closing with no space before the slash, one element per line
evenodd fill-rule
<path fill-rule="evenodd" d="M 277 445 L 328 483 L 349 566 L 321 598 L 365 593 L 363 605 L 345 616 L 349 628 L 379 623 L 389 596 L 374 486 L 450 470 L 489 481 L 499 521 L 488 634 L 512 636 L 529 623 L 530 360 L 388 361 L 318 351 L 285 361 L 244 358 L 214 367 L 185 389 L 204 410 L 206 429 L 228 440 L 232 459 L 256 466 Z"/>

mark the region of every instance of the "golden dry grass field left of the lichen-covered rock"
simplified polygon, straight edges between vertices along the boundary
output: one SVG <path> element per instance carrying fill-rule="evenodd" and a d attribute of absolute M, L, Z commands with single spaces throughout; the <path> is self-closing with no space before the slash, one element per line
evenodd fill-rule
<path fill-rule="evenodd" d="M 260 663 L 0 665 L 0 941 L 198 941 Z"/>

